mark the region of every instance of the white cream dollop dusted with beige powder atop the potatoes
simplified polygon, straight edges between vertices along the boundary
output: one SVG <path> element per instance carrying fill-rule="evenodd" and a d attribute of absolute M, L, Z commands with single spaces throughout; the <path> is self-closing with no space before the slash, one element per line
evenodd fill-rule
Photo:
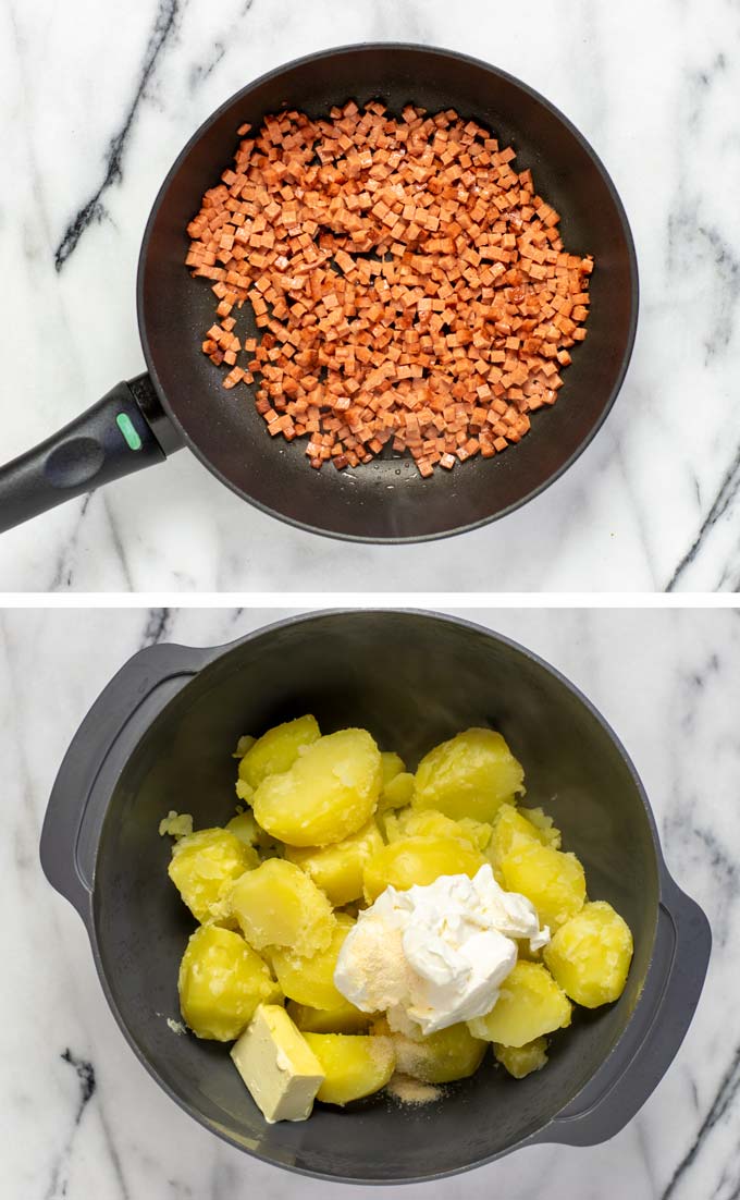
<path fill-rule="evenodd" d="M 434 1033 L 489 1013 L 517 960 L 549 941 L 534 905 L 504 892 L 488 864 L 474 878 L 443 875 L 426 887 L 387 887 L 361 912 L 342 946 L 335 985 L 363 1013 Z"/>

